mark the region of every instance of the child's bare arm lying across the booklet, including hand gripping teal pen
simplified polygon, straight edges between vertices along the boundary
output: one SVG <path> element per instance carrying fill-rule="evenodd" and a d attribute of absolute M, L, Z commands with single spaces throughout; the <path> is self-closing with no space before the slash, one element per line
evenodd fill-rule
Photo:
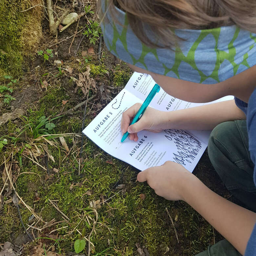
<path fill-rule="evenodd" d="M 216 125 L 225 121 L 246 119 L 244 112 L 239 109 L 234 100 L 194 108 L 164 112 L 148 107 L 141 119 L 129 126 L 132 118 L 138 112 L 141 104 L 137 103 L 127 109 L 122 116 L 121 130 L 131 133 L 129 138 L 137 141 L 137 132 L 150 130 L 160 132 L 164 129 L 212 130 Z"/>

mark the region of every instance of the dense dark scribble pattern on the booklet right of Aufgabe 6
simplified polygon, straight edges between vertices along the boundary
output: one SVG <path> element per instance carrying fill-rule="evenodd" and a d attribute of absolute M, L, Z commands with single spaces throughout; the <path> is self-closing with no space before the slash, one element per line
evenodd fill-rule
<path fill-rule="evenodd" d="M 167 134 L 165 138 L 172 140 L 177 147 L 177 152 L 173 153 L 173 160 L 183 165 L 187 162 L 192 163 L 202 148 L 202 143 L 184 130 L 168 129 L 164 132 Z"/>

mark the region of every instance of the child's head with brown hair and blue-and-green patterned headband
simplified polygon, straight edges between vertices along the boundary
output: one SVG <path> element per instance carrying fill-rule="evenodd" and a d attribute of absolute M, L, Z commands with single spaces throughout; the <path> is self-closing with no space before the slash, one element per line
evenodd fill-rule
<path fill-rule="evenodd" d="M 145 73 L 218 84 L 256 64 L 254 0 L 100 0 L 100 4 L 107 48 Z M 222 95 L 216 92 L 217 96 Z"/>

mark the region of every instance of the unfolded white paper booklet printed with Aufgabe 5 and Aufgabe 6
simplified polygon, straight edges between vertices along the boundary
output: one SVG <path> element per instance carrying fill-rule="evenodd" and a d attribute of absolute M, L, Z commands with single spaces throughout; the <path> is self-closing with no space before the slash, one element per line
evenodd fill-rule
<path fill-rule="evenodd" d="M 135 72 L 125 88 L 95 117 L 83 133 L 108 154 L 143 171 L 167 160 L 182 164 L 192 172 L 207 147 L 209 131 L 168 129 L 160 133 L 141 131 L 138 141 L 127 138 L 121 143 L 122 113 L 137 102 L 143 103 L 155 81 L 150 75 Z M 219 100 L 233 99 L 226 96 Z M 210 102 L 210 103 L 213 103 Z M 150 107 L 161 111 L 174 111 L 209 103 L 190 103 L 166 94 L 163 89 L 156 94 Z"/>

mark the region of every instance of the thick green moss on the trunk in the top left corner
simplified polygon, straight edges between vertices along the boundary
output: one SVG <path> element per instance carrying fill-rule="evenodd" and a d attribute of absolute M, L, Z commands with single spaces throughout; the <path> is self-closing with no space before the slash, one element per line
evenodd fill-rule
<path fill-rule="evenodd" d="M 21 74 L 24 55 L 38 43 L 42 34 L 40 7 L 20 12 L 38 3 L 0 0 L 0 66 L 6 73 Z"/>

